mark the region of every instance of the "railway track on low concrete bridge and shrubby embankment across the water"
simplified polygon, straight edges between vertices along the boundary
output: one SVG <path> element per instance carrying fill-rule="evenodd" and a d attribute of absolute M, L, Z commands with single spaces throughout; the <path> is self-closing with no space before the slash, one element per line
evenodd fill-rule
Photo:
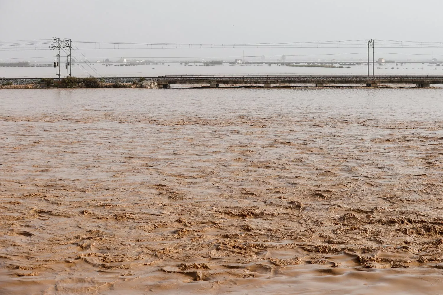
<path fill-rule="evenodd" d="M 179 75 L 160 77 L 108 77 L 77 78 L 0 78 L 1 88 L 170 88 L 171 85 L 209 85 L 218 88 L 221 84 L 353 84 L 377 87 L 386 84 L 415 84 L 430 87 L 443 84 L 442 75 Z M 19 86 L 18 86 L 19 85 Z"/>

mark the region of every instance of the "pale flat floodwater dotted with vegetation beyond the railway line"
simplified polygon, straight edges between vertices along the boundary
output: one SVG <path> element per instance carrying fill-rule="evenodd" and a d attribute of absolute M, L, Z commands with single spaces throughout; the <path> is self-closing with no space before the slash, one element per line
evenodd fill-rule
<path fill-rule="evenodd" d="M 349 64 L 349 62 L 346 62 Z M 364 63 L 363 63 L 364 64 Z M 338 66 L 338 64 L 336 64 Z M 372 64 L 369 64 L 372 75 Z M 6 78 L 35 78 L 56 77 L 58 69 L 54 67 L 0 67 L 0 77 Z M 151 65 L 125 65 L 125 64 L 81 64 L 73 65 L 72 73 L 76 77 L 158 77 L 165 75 L 366 75 L 366 65 L 346 65 L 341 68 L 309 68 L 290 67 L 286 65 L 223 65 L 204 66 L 201 63 L 180 65 L 179 63 L 164 63 Z M 443 66 L 428 63 L 406 63 L 401 65 L 383 64 L 375 65 L 376 75 L 443 75 Z M 61 69 L 61 76 L 65 77 L 68 70 Z"/>

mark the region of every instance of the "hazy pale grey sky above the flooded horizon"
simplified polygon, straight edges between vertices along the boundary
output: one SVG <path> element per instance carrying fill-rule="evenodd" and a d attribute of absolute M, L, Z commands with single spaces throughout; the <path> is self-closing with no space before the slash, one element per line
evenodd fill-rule
<path fill-rule="evenodd" d="M 441 0 L 0 0 L 0 41 L 57 36 L 76 41 L 169 43 L 367 38 L 443 42 L 440 34 L 443 29 L 442 8 Z M 290 55 L 328 50 L 248 51 L 247 55 L 280 52 Z M 435 50 L 435 54 L 439 53 L 443 54 L 443 50 Z M 0 57 L 45 54 L 42 51 L 1 51 Z M 217 56 L 240 55 L 242 52 L 155 50 L 86 54 Z"/>

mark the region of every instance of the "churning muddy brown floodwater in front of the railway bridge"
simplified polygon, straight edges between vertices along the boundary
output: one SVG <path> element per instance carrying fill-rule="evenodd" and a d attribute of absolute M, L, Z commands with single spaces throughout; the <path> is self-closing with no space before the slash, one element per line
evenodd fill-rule
<path fill-rule="evenodd" d="M 1 294 L 443 294 L 441 89 L 0 90 Z"/>

